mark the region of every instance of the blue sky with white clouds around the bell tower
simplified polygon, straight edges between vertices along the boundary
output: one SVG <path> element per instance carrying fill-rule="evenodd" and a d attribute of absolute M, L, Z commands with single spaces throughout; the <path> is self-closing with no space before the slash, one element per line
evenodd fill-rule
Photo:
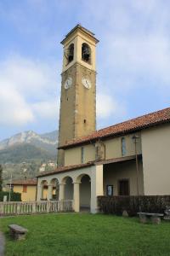
<path fill-rule="evenodd" d="M 0 0 L 0 141 L 58 129 L 63 49 L 77 23 L 99 39 L 97 128 L 170 106 L 167 0 Z"/>

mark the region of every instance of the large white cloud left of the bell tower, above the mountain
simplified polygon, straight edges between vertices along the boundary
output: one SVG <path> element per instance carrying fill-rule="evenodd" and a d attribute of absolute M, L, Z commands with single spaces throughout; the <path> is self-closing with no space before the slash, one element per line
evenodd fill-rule
<path fill-rule="evenodd" d="M 56 119 L 54 63 L 13 55 L 0 62 L 0 125 L 21 126 L 38 119 Z"/>

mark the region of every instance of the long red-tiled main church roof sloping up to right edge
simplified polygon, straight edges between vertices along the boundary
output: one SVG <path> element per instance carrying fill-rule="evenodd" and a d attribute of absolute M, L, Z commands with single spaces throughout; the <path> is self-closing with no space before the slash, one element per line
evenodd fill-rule
<path fill-rule="evenodd" d="M 120 124 L 112 125 L 95 131 L 87 137 L 72 140 L 59 148 L 72 148 L 78 144 L 89 143 L 99 138 L 121 136 L 133 131 L 140 131 L 154 125 L 170 122 L 170 108 L 165 108 L 154 113 L 144 114 L 135 119 L 130 119 Z"/>

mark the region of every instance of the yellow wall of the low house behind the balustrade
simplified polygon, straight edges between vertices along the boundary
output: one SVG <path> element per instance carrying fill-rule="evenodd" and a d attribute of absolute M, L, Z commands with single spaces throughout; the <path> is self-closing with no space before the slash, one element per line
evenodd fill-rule
<path fill-rule="evenodd" d="M 21 194 L 22 201 L 36 201 L 37 186 L 27 185 L 27 192 L 23 192 L 23 185 L 14 185 L 14 192 Z"/>

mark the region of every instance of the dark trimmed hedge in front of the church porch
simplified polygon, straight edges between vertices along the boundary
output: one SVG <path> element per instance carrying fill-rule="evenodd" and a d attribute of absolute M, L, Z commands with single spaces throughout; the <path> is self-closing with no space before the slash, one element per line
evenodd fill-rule
<path fill-rule="evenodd" d="M 99 212 L 122 215 L 127 211 L 129 216 L 137 212 L 164 213 L 170 207 L 170 195 L 139 195 L 138 196 L 98 196 Z"/>

